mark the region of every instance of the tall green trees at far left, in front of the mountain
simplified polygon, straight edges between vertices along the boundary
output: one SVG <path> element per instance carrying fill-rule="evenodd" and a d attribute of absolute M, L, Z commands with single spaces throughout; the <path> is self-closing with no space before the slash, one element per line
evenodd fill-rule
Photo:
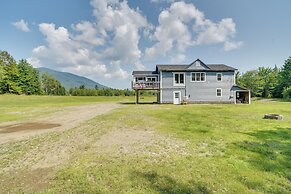
<path fill-rule="evenodd" d="M 61 83 L 48 74 L 40 76 L 26 60 L 19 62 L 0 51 L 0 94 L 65 95 Z"/>

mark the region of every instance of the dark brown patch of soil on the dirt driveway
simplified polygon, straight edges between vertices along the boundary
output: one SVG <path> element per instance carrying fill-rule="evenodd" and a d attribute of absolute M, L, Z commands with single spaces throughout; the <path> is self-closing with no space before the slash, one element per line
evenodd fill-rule
<path fill-rule="evenodd" d="M 53 123 L 19 123 L 14 125 L 6 125 L 0 127 L 0 133 L 13 133 L 25 130 L 41 130 L 60 127 L 60 124 Z"/>

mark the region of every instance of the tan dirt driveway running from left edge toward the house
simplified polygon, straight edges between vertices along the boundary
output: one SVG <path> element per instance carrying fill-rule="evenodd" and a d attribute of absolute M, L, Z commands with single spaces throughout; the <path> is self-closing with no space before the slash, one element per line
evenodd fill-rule
<path fill-rule="evenodd" d="M 60 111 L 45 118 L 1 123 L 0 144 L 23 140 L 50 131 L 70 129 L 84 121 L 118 108 L 119 106 L 120 105 L 117 103 L 98 103 L 64 107 Z"/>

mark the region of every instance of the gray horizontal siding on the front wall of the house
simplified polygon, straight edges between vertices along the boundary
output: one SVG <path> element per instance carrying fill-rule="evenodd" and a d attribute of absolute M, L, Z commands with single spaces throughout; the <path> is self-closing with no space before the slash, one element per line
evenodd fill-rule
<path fill-rule="evenodd" d="M 181 96 L 189 96 L 189 102 L 233 103 L 234 72 L 205 72 L 205 82 L 191 82 L 191 72 L 185 72 L 185 87 L 173 86 L 173 72 L 162 72 L 162 103 L 173 103 L 173 91 L 181 91 Z M 222 73 L 222 81 L 216 80 L 216 74 Z M 216 97 L 216 89 L 222 89 L 222 96 Z"/>

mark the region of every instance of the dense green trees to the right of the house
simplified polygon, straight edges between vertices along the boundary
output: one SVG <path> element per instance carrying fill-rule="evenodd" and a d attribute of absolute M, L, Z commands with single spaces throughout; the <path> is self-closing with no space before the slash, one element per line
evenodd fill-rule
<path fill-rule="evenodd" d="M 291 57 L 282 68 L 259 67 L 236 74 L 237 84 L 251 90 L 253 97 L 291 100 Z"/>

